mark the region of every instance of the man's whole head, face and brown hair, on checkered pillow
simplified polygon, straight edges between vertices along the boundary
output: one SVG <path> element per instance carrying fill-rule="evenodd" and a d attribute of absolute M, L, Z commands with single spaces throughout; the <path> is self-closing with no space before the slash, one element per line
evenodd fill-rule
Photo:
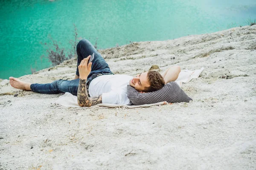
<path fill-rule="evenodd" d="M 137 91 L 151 92 L 160 90 L 164 85 L 164 79 L 157 71 L 148 71 L 137 74 L 129 84 Z"/>

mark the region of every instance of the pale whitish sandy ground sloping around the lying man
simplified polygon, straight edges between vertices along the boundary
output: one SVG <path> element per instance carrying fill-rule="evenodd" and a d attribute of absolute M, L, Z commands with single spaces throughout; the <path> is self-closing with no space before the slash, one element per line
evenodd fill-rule
<path fill-rule="evenodd" d="M 193 102 L 139 109 L 56 107 L 62 94 L 19 91 L 4 80 L 0 170 L 256 169 L 256 26 L 100 52 L 116 74 L 154 64 L 205 70 L 182 87 Z M 46 83 L 75 71 L 71 59 L 20 79 Z"/>

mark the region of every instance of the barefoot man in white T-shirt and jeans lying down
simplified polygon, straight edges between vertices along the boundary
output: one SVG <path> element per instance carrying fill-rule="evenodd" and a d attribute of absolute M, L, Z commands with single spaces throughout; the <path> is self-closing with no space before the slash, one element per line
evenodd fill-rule
<path fill-rule="evenodd" d="M 140 93 L 160 90 L 166 83 L 175 81 L 180 73 L 179 66 L 167 69 L 163 74 L 148 71 L 136 77 L 113 74 L 101 54 L 88 40 L 80 40 L 76 47 L 77 70 L 73 80 L 55 80 L 47 84 L 31 84 L 10 77 L 12 87 L 41 94 L 69 92 L 77 96 L 79 106 L 90 107 L 100 103 L 130 105 L 127 85 Z M 94 53 L 92 62 L 89 62 Z"/>

